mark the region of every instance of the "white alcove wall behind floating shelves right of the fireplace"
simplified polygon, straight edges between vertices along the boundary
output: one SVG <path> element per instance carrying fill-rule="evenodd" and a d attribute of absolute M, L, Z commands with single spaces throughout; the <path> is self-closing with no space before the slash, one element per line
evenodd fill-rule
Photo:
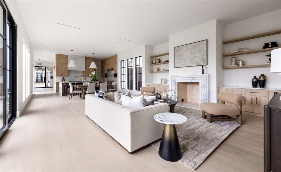
<path fill-rule="evenodd" d="M 239 38 L 243 36 L 250 36 L 263 32 L 269 32 L 273 30 L 279 30 L 281 28 L 280 22 L 281 9 L 259 15 L 243 21 L 228 24 L 225 28 L 224 39 L 229 40 L 233 38 Z M 277 41 L 281 46 L 281 34 L 266 36 L 262 38 L 256 38 L 252 40 L 246 40 L 241 42 L 235 42 L 231 44 L 225 44 L 225 53 L 236 50 L 238 47 L 246 47 L 247 49 L 257 50 L 262 49 L 264 43 Z M 268 62 L 268 57 L 265 55 L 270 52 L 260 52 L 253 54 L 244 54 L 236 56 L 237 62 L 242 59 L 245 65 L 251 64 L 264 64 Z M 231 57 L 225 57 L 225 66 L 230 65 Z M 260 68 L 245 68 L 245 69 L 225 69 L 225 81 L 224 85 L 228 86 L 247 86 L 251 87 L 251 80 L 253 76 L 259 77 L 261 73 L 266 76 L 266 87 L 281 88 L 281 76 L 277 73 L 270 73 L 270 67 Z"/>

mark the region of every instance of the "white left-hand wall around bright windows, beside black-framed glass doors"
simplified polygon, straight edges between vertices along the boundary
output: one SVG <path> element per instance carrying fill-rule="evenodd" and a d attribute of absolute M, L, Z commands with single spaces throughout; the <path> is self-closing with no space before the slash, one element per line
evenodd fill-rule
<path fill-rule="evenodd" d="M 17 6 L 16 1 L 6 1 L 7 6 L 13 16 L 13 19 L 15 20 L 15 23 L 17 25 L 17 117 L 21 115 L 23 112 L 25 106 L 27 105 L 30 97 L 32 96 L 32 90 L 33 90 L 33 62 L 34 62 L 34 53 L 32 50 L 32 46 L 30 44 L 30 40 L 28 37 L 28 34 L 26 32 L 23 19 L 21 18 L 21 14 L 19 12 L 19 8 Z M 23 73 L 22 73 L 22 45 L 23 45 L 23 39 L 25 40 L 25 43 L 27 44 L 29 50 L 30 50 L 30 95 L 25 99 L 25 101 L 22 101 L 22 88 L 23 88 Z"/>

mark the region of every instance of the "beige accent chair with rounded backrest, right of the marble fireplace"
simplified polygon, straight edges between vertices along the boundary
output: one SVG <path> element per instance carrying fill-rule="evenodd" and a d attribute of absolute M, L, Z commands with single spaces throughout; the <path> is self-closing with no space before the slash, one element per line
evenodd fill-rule
<path fill-rule="evenodd" d="M 244 121 L 242 121 L 242 105 L 245 104 L 246 99 L 242 95 L 228 94 L 228 93 L 219 93 L 218 99 L 221 103 L 201 103 L 200 108 L 202 110 L 202 118 L 207 121 L 235 121 L 237 124 L 242 125 Z M 232 107 L 229 105 L 225 105 L 225 102 L 236 105 L 236 107 Z M 240 106 L 240 109 L 237 108 Z M 236 115 L 236 119 L 232 118 L 228 115 Z"/>

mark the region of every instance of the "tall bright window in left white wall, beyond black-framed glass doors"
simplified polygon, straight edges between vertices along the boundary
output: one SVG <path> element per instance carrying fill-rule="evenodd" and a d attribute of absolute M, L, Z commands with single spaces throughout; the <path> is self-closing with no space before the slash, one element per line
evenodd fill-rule
<path fill-rule="evenodd" d="M 30 94 L 30 52 L 22 38 L 22 101 Z"/>

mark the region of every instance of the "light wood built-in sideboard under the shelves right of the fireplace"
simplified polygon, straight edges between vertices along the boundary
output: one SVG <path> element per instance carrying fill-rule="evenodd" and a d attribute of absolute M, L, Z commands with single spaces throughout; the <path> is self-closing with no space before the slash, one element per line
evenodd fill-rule
<path fill-rule="evenodd" d="M 243 113 L 256 116 L 264 116 L 264 105 L 272 99 L 275 91 L 281 93 L 281 88 L 218 87 L 219 93 L 243 95 L 246 98 L 242 106 Z M 225 104 L 236 107 L 234 104 Z"/>

